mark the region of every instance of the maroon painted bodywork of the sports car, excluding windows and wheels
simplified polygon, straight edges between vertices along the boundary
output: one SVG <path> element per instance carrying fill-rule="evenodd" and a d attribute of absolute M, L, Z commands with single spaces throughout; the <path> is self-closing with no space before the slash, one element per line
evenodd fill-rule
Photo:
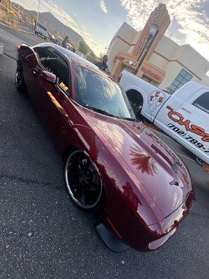
<path fill-rule="evenodd" d="M 20 47 L 18 58 L 31 98 L 47 122 L 61 155 L 64 157 L 76 147 L 93 160 L 107 199 L 106 223 L 122 241 L 141 251 L 160 247 L 194 204 L 187 168 L 143 123 L 115 119 L 78 105 L 77 65 L 109 77 L 76 54 L 56 45 L 42 44 L 47 45 L 68 61 L 69 95 L 42 77 L 45 68 L 33 47 Z"/>

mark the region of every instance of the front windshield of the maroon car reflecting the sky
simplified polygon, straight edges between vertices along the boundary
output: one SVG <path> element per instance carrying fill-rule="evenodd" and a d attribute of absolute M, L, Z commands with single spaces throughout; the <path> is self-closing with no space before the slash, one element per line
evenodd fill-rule
<path fill-rule="evenodd" d="M 75 100 L 84 107 L 109 116 L 135 120 L 127 96 L 115 82 L 77 66 Z"/>

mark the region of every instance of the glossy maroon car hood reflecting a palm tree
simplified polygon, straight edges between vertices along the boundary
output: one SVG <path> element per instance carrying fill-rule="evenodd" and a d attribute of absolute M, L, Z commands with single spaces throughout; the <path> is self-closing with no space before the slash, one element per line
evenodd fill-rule
<path fill-rule="evenodd" d="M 178 209 L 192 186 L 189 173 L 176 154 L 141 122 L 85 111 L 88 123 L 98 128 L 120 154 L 164 218 Z"/>

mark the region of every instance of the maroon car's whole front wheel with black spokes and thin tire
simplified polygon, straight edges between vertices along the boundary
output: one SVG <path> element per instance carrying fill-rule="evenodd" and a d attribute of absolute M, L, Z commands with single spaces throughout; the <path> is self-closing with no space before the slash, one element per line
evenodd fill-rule
<path fill-rule="evenodd" d="M 82 210 L 104 209 L 102 181 L 95 164 L 81 150 L 71 151 L 65 161 L 65 185 L 72 201 Z"/>

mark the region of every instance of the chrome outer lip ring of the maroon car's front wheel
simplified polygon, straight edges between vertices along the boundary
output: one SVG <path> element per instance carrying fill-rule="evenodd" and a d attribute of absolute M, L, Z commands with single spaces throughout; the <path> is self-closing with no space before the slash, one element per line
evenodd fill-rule
<path fill-rule="evenodd" d="M 70 155 L 68 156 L 68 160 L 65 163 L 65 174 L 64 174 L 65 175 L 65 184 L 66 184 L 68 193 L 69 193 L 70 197 L 72 198 L 72 200 L 75 202 L 75 204 L 77 204 L 82 209 L 93 209 L 93 207 L 95 207 L 98 204 L 98 202 L 100 201 L 100 198 L 102 196 L 102 180 L 100 178 L 100 195 L 98 196 L 98 199 L 97 199 L 97 201 L 94 204 L 91 204 L 91 205 L 89 205 L 89 204 L 82 204 L 81 202 L 79 202 L 77 200 L 77 198 L 72 193 L 72 190 L 70 188 L 70 183 L 68 181 L 68 165 L 69 165 L 69 162 L 70 162 L 70 158 L 72 158 L 72 156 L 74 156 L 77 153 L 82 153 L 82 154 L 85 154 L 85 156 L 86 156 L 86 152 L 83 152 L 81 150 L 75 150 L 72 153 L 70 153 Z M 88 156 L 86 156 L 86 158 L 88 158 L 88 160 L 91 161 L 91 164 L 93 165 L 93 167 L 95 167 L 96 172 L 98 172 L 98 168 L 96 167 L 95 163 L 93 163 L 92 160 Z M 98 175 L 100 177 L 99 173 L 98 173 Z"/>

